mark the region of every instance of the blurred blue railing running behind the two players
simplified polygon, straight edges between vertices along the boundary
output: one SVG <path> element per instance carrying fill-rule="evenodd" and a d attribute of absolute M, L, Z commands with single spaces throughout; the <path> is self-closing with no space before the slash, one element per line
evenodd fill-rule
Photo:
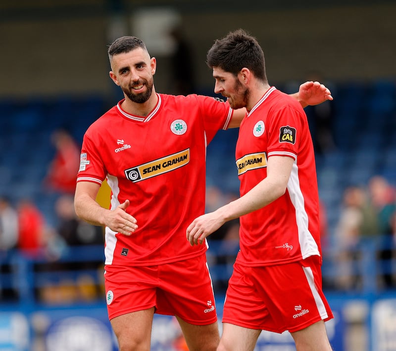
<path fill-rule="evenodd" d="M 216 290 L 225 290 L 238 252 L 238 242 L 209 241 L 207 260 Z M 386 253 L 383 255 L 382 253 Z M 396 249 L 391 237 L 366 238 L 346 255 L 335 248 L 324 251 L 323 282 L 329 292 L 376 296 L 396 287 Z M 103 246 L 78 246 L 66 249 L 57 257 L 45 251 L 0 252 L 0 303 L 42 303 L 40 291 L 67 282 L 77 285 L 88 277 L 102 299 Z M 340 277 L 345 285 L 340 285 Z M 224 293 L 224 291 L 218 291 Z M 76 297 L 78 299 L 78 297 Z M 68 302 L 70 303 L 70 301 Z"/>

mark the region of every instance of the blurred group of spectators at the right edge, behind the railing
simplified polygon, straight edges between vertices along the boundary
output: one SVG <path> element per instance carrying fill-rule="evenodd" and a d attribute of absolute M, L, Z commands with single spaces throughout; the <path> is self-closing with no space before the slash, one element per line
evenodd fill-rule
<path fill-rule="evenodd" d="M 338 265 L 338 289 L 361 288 L 365 245 L 374 247 L 382 288 L 396 286 L 396 188 L 383 176 L 373 176 L 364 186 L 344 191 L 340 218 L 334 233 L 334 258 Z"/>

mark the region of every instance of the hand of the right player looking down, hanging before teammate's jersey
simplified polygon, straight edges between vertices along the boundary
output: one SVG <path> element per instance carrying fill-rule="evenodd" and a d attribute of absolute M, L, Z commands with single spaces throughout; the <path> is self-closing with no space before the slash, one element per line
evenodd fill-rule
<path fill-rule="evenodd" d="M 191 246 L 202 244 L 206 236 L 212 234 L 224 224 L 216 212 L 207 213 L 196 218 L 187 228 L 186 237 Z"/>

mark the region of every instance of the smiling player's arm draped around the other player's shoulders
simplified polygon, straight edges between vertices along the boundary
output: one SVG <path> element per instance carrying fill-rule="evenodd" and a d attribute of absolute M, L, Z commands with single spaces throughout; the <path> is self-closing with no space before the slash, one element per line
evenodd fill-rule
<path fill-rule="evenodd" d="M 307 81 L 302 83 L 297 93 L 289 94 L 291 97 L 297 99 L 301 106 L 319 105 L 326 100 L 333 100 L 331 92 L 325 85 L 319 82 Z M 235 110 L 232 116 L 229 128 L 238 128 L 246 115 L 246 109 Z"/>

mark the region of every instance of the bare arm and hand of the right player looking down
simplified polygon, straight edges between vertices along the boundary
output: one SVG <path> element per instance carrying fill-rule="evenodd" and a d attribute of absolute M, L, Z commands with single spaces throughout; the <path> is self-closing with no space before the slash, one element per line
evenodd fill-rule
<path fill-rule="evenodd" d="M 204 238 L 219 229 L 225 222 L 258 210 L 282 196 L 292 173 L 294 159 L 271 156 L 267 162 L 267 177 L 239 199 L 216 211 L 196 218 L 187 228 L 186 237 L 191 245 L 201 244 Z"/>

